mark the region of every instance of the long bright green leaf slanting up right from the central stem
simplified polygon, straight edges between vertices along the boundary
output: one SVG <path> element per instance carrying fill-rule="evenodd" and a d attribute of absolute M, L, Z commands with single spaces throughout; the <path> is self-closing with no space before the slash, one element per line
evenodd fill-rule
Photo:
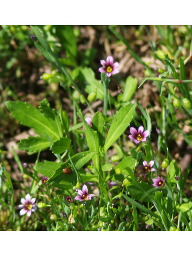
<path fill-rule="evenodd" d="M 123 134 L 128 128 L 130 122 L 133 119 L 133 112 L 136 104 L 130 104 L 122 106 L 119 111 L 116 112 L 114 120 L 107 134 L 106 142 L 104 144 L 104 152 L 110 148 L 110 146 Z"/>

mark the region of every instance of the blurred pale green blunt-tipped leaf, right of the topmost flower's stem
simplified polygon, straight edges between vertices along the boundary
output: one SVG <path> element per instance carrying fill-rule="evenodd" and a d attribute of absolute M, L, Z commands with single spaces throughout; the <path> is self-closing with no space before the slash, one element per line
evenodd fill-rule
<path fill-rule="evenodd" d="M 122 102 L 130 101 L 131 97 L 133 96 L 134 92 L 136 91 L 137 86 L 138 86 L 138 79 L 133 78 L 132 76 L 128 76 L 125 81 Z"/>

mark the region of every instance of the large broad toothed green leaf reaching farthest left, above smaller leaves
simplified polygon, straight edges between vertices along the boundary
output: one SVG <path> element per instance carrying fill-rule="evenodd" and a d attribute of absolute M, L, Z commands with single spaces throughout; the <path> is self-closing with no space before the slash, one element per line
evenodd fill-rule
<path fill-rule="evenodd" d="M 43 131 L 52 139 L 59 138 L 48 119 L 32 105 L 19 100 L 16 102 L 9 100 L 5 104 L 8 110 L 12 112 L 13 117 L 22 125 Z"/>

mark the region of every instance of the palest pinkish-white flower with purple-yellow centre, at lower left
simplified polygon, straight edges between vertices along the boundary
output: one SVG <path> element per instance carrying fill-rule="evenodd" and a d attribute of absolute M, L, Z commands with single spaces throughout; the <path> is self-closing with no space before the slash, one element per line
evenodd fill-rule
<path fill-rule="evenodd" d="M 29 193 L 26 195 L 25 199 L 21 198 L 22 204 L 18 206 L 19 208 L 22 208 L 20 210 L 20 215 L 26 214 L 27 212 L 27 216 L 30 217 L 31 212 L 34 212 L 37 209 L 37 207 L 34 204 L 35 200 L 36 198 L 31 199 Z"/>

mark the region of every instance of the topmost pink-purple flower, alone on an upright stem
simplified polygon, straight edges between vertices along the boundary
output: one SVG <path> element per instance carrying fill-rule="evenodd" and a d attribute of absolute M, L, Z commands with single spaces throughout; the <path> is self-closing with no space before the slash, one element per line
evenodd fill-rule
<path fill-rule="evenodd" d="M 108 77 L 110 77 L 111 74 L 119 73 L 119 70 L 117 68 L 119 66 L 119 63 L 118 62 L 113 63 L 112 56 L 108 56 L 107 61 L 100 60 L 100 62 L 103 67 L 99 68 L 99 72 L 106 73 Z"/>

